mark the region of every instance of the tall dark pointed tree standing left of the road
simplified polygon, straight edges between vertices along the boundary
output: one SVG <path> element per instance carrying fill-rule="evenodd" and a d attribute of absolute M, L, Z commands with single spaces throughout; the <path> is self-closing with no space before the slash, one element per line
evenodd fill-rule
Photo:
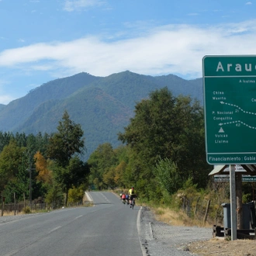
<path fill-rule="evenodd" d="M 54 178 L 61 185 L 66 194 L 67 205 L 68 189 L 81 184 L 88 175 L 88 164 L 79 160 L 78 154 L 85 149 L 85 139 L 80 124 L 74 123 L 64 111 L 62 120 L 57 126 L 57 133 L 50 137 L 47 148 L 48 156 L 56 161 Z"/>

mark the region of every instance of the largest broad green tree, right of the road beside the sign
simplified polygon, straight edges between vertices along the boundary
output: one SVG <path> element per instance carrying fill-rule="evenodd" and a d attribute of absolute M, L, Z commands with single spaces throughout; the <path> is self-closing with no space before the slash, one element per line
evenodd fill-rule
<path fill-rule="evenodd" d="M 135 116 L 119 133 L 119 140 L 132 150 L 126 170 L 137 180 L 145 196 L 159 195 L 154 167 L 161 159 L 177 166 L 183 182 L 189 177 L 200 186 L 206 185 L 203 112 L 199 102 L 188 96 L 172 95 L 168 88 L 150 93 L 149 99 L 137 103 Z M 200 175 L 199 175 L 200 174 Z"/>

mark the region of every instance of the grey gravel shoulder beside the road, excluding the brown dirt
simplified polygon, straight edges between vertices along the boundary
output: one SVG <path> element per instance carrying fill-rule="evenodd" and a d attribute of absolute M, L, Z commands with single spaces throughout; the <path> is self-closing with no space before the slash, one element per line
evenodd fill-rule
<path fill-rule="evenodd" d="M 149 209 L 142 207 L 139 236 L 144 256 L 188 256 L 194 254 L 189 244 L 211 239 L 212 229 L 178 227 L 161 223 L 154 219 Z"/>

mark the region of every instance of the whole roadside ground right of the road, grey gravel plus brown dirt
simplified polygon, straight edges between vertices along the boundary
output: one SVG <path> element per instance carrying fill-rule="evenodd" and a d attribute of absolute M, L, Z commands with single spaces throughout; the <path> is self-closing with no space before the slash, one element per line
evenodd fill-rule
<path fill-rule="evenodd" d="M 213 238 L 212 232 L 212 228 L 161 223 L 149 209 L 141 209 L 139 234 L 144 256 L 256 256 L 255 240 Z"/>

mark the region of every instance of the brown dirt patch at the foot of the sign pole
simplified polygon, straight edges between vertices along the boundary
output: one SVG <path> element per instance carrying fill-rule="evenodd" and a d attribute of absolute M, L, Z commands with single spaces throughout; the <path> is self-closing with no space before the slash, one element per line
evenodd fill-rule
<path fill-rule="evenodd" d="M 256 256 L 256 240 L 223 240 L 213 238 L 188 245 L 190 252 L 198 255 Z"/>

